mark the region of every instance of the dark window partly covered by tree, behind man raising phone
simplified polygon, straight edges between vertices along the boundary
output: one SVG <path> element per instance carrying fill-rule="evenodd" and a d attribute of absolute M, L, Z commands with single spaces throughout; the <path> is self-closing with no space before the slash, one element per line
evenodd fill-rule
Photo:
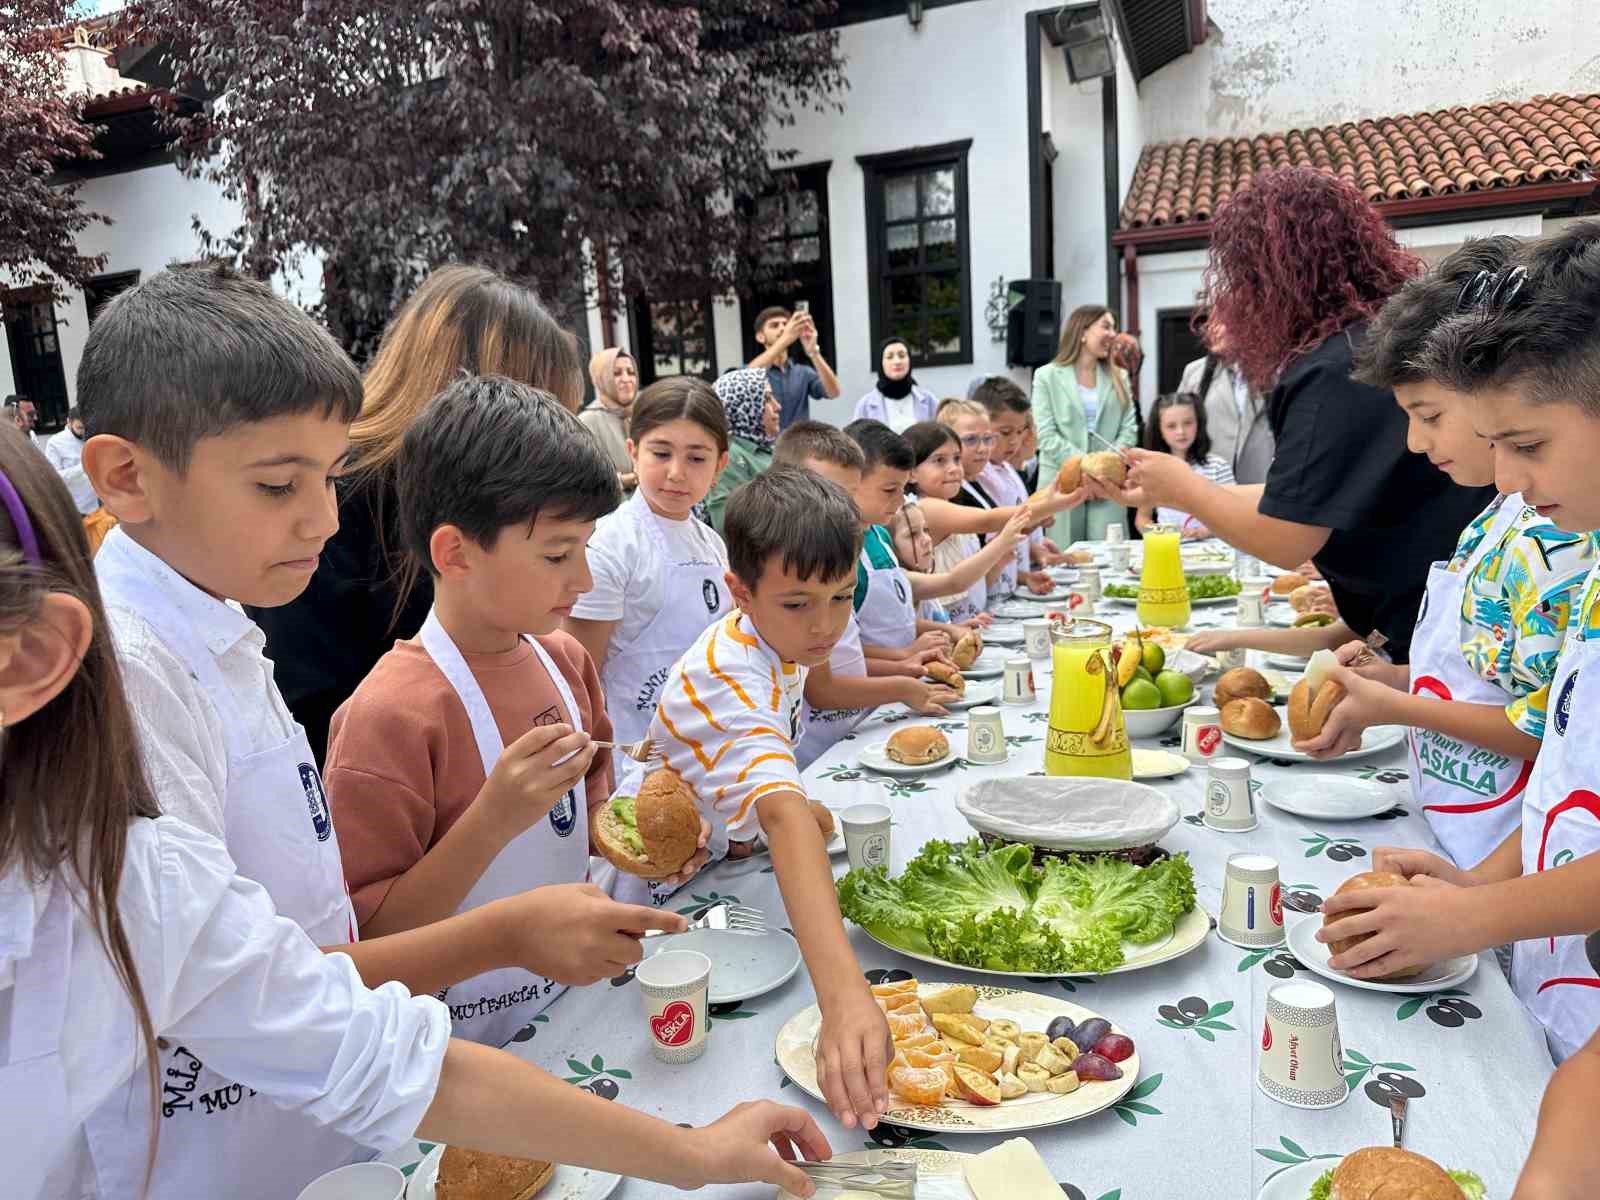
<path fill-rule="evenodd" d="M 798 301 L 811 306 L 818 347 L 834 360 L 834 269 L 827 240 L 827 170 L 832 163 L 811 163 L 774 171 L 786 184 L 755 202 L 750 219 L 762 237 L 760 270 L 754 286 L 739 299 L 744 326 L 744 362 L 762 352 L 755 342 L 755 315 L 770 306 L 794 310 Z"/>

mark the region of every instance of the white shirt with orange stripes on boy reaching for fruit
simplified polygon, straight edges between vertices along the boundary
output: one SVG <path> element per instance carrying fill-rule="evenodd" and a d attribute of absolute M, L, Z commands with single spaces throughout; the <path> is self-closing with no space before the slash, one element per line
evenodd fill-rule
<path fill-rule="evenodd" d="M 661 690 L 650 736 L 733 842 L 760 832 L 763 795 L 805 795 L 795 765 L 805 675 L 736 611 L 699 635 Z"/>

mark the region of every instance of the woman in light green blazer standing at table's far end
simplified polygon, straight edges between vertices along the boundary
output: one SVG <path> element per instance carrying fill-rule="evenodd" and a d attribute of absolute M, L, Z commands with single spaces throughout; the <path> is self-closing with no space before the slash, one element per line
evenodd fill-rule
<path fill-rule="evenodd" d="M 1061 352 L 1034 371 L 1034 426 L 1038 429 L 1038 486 L 1054 482 L 1061 464 L 1074 454 L 1138 442 L 1138 416 L 1128 376 L 1110 362 L 1117 318 L 1104 304 L 1072 310 L 1061 330 Z M 1090 414 L 1093 413 L 1093 422 Z M 1106 443 L 1088 435 L 1093 429 Z M 1123 522 L 1115 501 L 1085 501 L 1056 517 L 1050 538 L 1061 549 L 1072 542 L 1101 541 L 1106 526 Z"/>

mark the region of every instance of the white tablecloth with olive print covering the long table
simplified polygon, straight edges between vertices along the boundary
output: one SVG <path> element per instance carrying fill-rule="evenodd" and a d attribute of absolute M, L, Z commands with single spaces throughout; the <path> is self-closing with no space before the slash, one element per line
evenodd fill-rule
<path fill-rule="evenodd" d="M 1133 621 L 1131 608 L 1101 605 L 1101 616 L 1118 627 Z M 1195 610 L 1197 624 L 1230 621 L 1229 610 Z M 1021 653 L 1021 651 L 1018 651 Z M 990 776 L 1042 771 L 1050 674 L 1035 662 L 1038 702 L 1006 707 L 1005 730 L 1011 760 L 1005 766 L 970 766 L 917 781 L 890 781 L 861 771 L 854 752 L 914 718 L 904 710 L 882 710 L 850 741 L 838 742 L 808 771 L 814 798 L 834 810 L 862 800 L 886 802 L 894 811 L 893 869 L 933 837 L 965 838 L 971 829 L 957 814 L 954 797 L 963 786 Z M 965 717 L 941 722 L 952 746 L 965 750 Z M 1176 744 L 1176 728 L 1160 739 Z M 1278 765 L 1258 760 L 1254 778 L 1283 782 L 1314 773 L 1376 779 L 1394 790 L 1395 808 L 1365 821 L 1317 822 L 1261 806 L 1261 824 L 1248 834 L 1219 834 L 1200 824 L 1203 770 L 1155 784 L 1168 789 L 1184 819 L 1163 838 L 1171 851 L 1187 853 L 1195 866 L 1200 902 L 1214 914 L 1221 901 L 1222 866 L 1229 854 L 1267 853 L 1282 864 L 1290 909 L 1310 909 L 1347 875 L 1371 862 L 1379 845 L 1437 845 L 1408 805 L 1405 747 L 1350 763 Z M 845 870 L 835 858 L 835 874 Z M 723 862 L 686 886 L 674 907 L 694 914 L 722 899 L 754 904 L 778 925 L 787 923 L 771 862 L 754 858 Z M 877 978 L 909 971 L 925 979 L 968 979 L 906 958 L 850 926 L 861 966 Z M 1550 1075 L 1544 1038 L 1523 1013 L 1493 954 L 1478 971 L 1448 994 L 1408 997 L 1334 986 L 1346 1050 L 1350 1098 L 1338 1109 L 1304 1112 L 1285 1107 L 1254 1086 L 1254 1066 L 1267 990 L 1290 978 L 1310 978 L 1288 950 L 1250 952 L 1213 933 L 1198 950 L 1162 966 L 1104 979 L 1064 979 L 1030 984 L 1059 990 L 1075 1003 L 1104 1013 L 1130 1030 L 1139 1045 L 1144 1075 L 1125 1102 L 1086 1120 L 1029 1134 L 1072 1200 L 1181 1200 L 1216 1197 L 1248 1200 L 1277 1171 L 1304 1158 L 1338 1157 L 1390 1136 L 1387 1094 L 1413 1098 L 1406 1146 L 1453 1168 L 1480 1173 L 1490 1195 L 1506 1200 L 1533 1141 L 1539 1098 Z M 990 979 L 990 982 L 995 982 Z M 632 976 L 570 990 L 510 1048 L 574 1083 L 618 1102 L 632 1104 L 670 1122 L 702 1125 L 742 1099 L 770 1096 L 805 1104 L 816 1114 L 835 1150 L 869 1146 L 934 1146 L 978 1152 L 994 1136 L 918 1134 L 880 1126 L 874 1134 L 846 1131 L 798 1088 L 787 1085 L 773 1059 L 778 1029 L 797 1010 L 813 1003 L 811 982 L 802 970 L 789 984 L 739 1005 L 714 1011 L 707 1053 L 690 1066 L 654 1061 L 640 1016 Z M 530 1114 L 538 1120 L 538 1114 Z M 421 1147 L 389 1155 L 413 1163 Z M 629 1179 L 618 1190 L 634 1200 L 667 1195 L 670 1189 Z M 766 1187 L 710 1187 L 709 1197 L 754 1200 Z"/>

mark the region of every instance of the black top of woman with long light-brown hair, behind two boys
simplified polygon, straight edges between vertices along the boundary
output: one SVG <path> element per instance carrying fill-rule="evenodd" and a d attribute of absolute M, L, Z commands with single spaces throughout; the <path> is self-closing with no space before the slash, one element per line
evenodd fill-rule
<path fill-rule="evenodd" d="M 387 550 L 403 549 L 395 528 L 395 493 L 387 480 L 339 493 L 339 531 L 322 547 L 310 584 L 280 608 L 250 608 L 266 630 L 272 677 L 294 720 L 306 726 L 317 763 L 326 757 L 328 722 L 397 638 L 416 637 L 434 605 L 434 579 L 421 571 L 395 619 L 398 579 L 379 544 L 379 509 Z"/>

